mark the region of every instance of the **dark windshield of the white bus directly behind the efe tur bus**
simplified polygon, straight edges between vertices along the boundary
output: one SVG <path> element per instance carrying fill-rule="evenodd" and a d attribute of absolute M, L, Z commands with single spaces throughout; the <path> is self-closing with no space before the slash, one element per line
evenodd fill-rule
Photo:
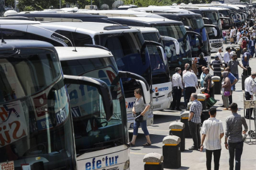
<path fill-rule="evenodd" d="M 144 38 L 140 31 L 95 35 L 95 43 L 107 47 L 112 52 L 119 71 L 139 74 L 151 84 L 149 57 L 145 57 L 145 60 L 141 57 Z M 145 56 L 148 56 L 148 50 Z M 134 79 L 122 78 L 122 83 L 125 98 L 134 97 L 134 89 L 139 88 L 134 84 Z"/>

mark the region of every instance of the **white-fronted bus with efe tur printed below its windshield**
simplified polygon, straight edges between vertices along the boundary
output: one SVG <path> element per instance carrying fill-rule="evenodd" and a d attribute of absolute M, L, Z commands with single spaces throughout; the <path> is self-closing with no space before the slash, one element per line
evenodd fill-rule
<path fill-rule="evenodd" d="M 96 88 L 90 84 L 67 86 L 78 170 L 130 169 L 125 94 L 120 78 L 138 83 L 143 89 L 145 103 L 150 102 L 148 82 L 137 74 L 119 72 L 111 52 L 107 48 L 94 47 L 76 47 L 76 50 L 74 47 L 55 47 L 64 74 L 100 79 L 107 84 L 112 95 L 113 116 L 107 120 L 100 92 Z"/>

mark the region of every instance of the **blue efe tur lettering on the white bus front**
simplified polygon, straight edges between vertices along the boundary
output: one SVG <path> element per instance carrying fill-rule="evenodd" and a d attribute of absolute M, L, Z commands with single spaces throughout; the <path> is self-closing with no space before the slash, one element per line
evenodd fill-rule
<path fill-rule="evenodd" d="M 119 156 L 105 156 L 102 159 L 96 160 L 95 157 L 90 162 L 85 163 L 85 170 L 99 169 L 102 167 L 113 166 L 118 164 Z"/>

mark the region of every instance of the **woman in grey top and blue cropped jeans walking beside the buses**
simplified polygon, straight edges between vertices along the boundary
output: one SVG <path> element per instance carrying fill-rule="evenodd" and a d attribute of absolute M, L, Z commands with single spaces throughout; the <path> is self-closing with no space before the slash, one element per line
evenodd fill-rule
<path fill-rule="evenodd" d="M 136 102 L 134 103 L 134 107 L 132 108 L 132 113 L 136 116 L 142 115 L 143 122 L 134 121 L 133 136 L 132 136 L 132 141 L 130 142 L 130 145 L 132 145 L 132 146 L 135 145 L 135 140 L 136 140 L 136 137 L 138 134 L 138 129 L 139 129 L 139 126 L 141 126 L 141 128 L 144 132 L 144 135 L 146 136 L 146 139 L 147 139 L 146 144 L 143 144 L 143 145 L 149 146 L 149 145 L 151 145 L 151 141 L 149 138 L 149 132 L 148 132 L 148 128 L 147 128 L 147 117 L 148 117 L 147 111 L 149 110 L 150 105 L 144 103 L 143 92 L 141 91 L 141 89 L 135 89 L 134 96 L 136 98 Z"/>

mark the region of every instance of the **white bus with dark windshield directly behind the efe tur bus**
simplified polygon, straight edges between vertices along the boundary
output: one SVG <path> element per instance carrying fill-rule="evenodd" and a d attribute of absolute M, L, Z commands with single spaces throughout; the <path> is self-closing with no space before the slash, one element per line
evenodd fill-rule
<path fill-rule="evenodd" d="M 8 21 L 8 20 L 5 20 Z M 0 21 L 4 23 L 4 21 Z M 73 25 L 73 26 L 69 26 Z M 110 25 L 106 23 L 81 23 L 81 22 L 54 22 L 44 23 L 41 25 L 1 25 L 3 30 L 4 38 L 26 38 L 32 36 L 30 33 L 25 33 L 27 28 L 31 28 L 30 32 L 33 31 L 33 35 L 37 34 L 37 38 L 54 39 L 55 42 L 52 43 L 55 47 L 57 46 L 71 46 L 70 41 L 73 42 L 76 47 L 90 46 L 93 44 L 102 45 L 112 52 L 117 62 L 117 67 L 119 71 L 129 71 L 143 76 L 148 84 L 149 88 L 152 89 L 152 76 L 151 76 L 151 63 L 149 60 L 148 49 L 146 48 L 141 51 L 141 47 L 146 45 L 144 42 L 143 35 L 141 31 L 135 28 L 129 28 L 128 26 L 120 25 Z M 33 27 L 33 28 L 32 28 Z M 13 30 L 15 28 L 15 30 Z M 44 29 L 42 29 L 44 28 Z M 22 29 L 22 30 L 21 30 Z M 52 31 L 52 35 L 49 35 L 49 31 Z M 47 32 L 47 33 L 45 33 Z M 7 35 L 10 35 L 9 37 Z M 25 36 L 29 35 L 29 36 Z M 38 35 L 40 35 L 38 37 Z M 63 39 L 63 36 L 66 39 Z M 45 37 L 44 37 L 45 36 Z M 67 45 L 63 45 L 62 43 Z M 159 43 L 158 43 L 159 44 Z M 160 44 L 161 46 L 161 44 Z M 158 47 L 159 48 L 159 47 Z M 161 50 L 161 49 L 160 49 Z M 141 54 L 143 53 L 143 54 Z M 163 49 L 161 50 L 161 56 L 164 56 Z M 142 57 L 145 55 L 146 57 Z M 165 59 L 163 59 L 164 61 Z M 135 66 L 135 67 L 134 67 Z M 133 115 L 132 107 L 135 101 L 133 90 L 137 87 L 134 86 L 134 81 L 132 79 L 122 79 L 122 83 L 125 91 L 125 101 L 127 108 L 127 120 L 129 123 L 129 128 L 133 127 Z M 131 88 L 132 87 L 132 88 Z M 151 106 L 152 95 L 151 95 Z M 149 110 L 147 125 L 153 124 L 153 108 Z"/>

